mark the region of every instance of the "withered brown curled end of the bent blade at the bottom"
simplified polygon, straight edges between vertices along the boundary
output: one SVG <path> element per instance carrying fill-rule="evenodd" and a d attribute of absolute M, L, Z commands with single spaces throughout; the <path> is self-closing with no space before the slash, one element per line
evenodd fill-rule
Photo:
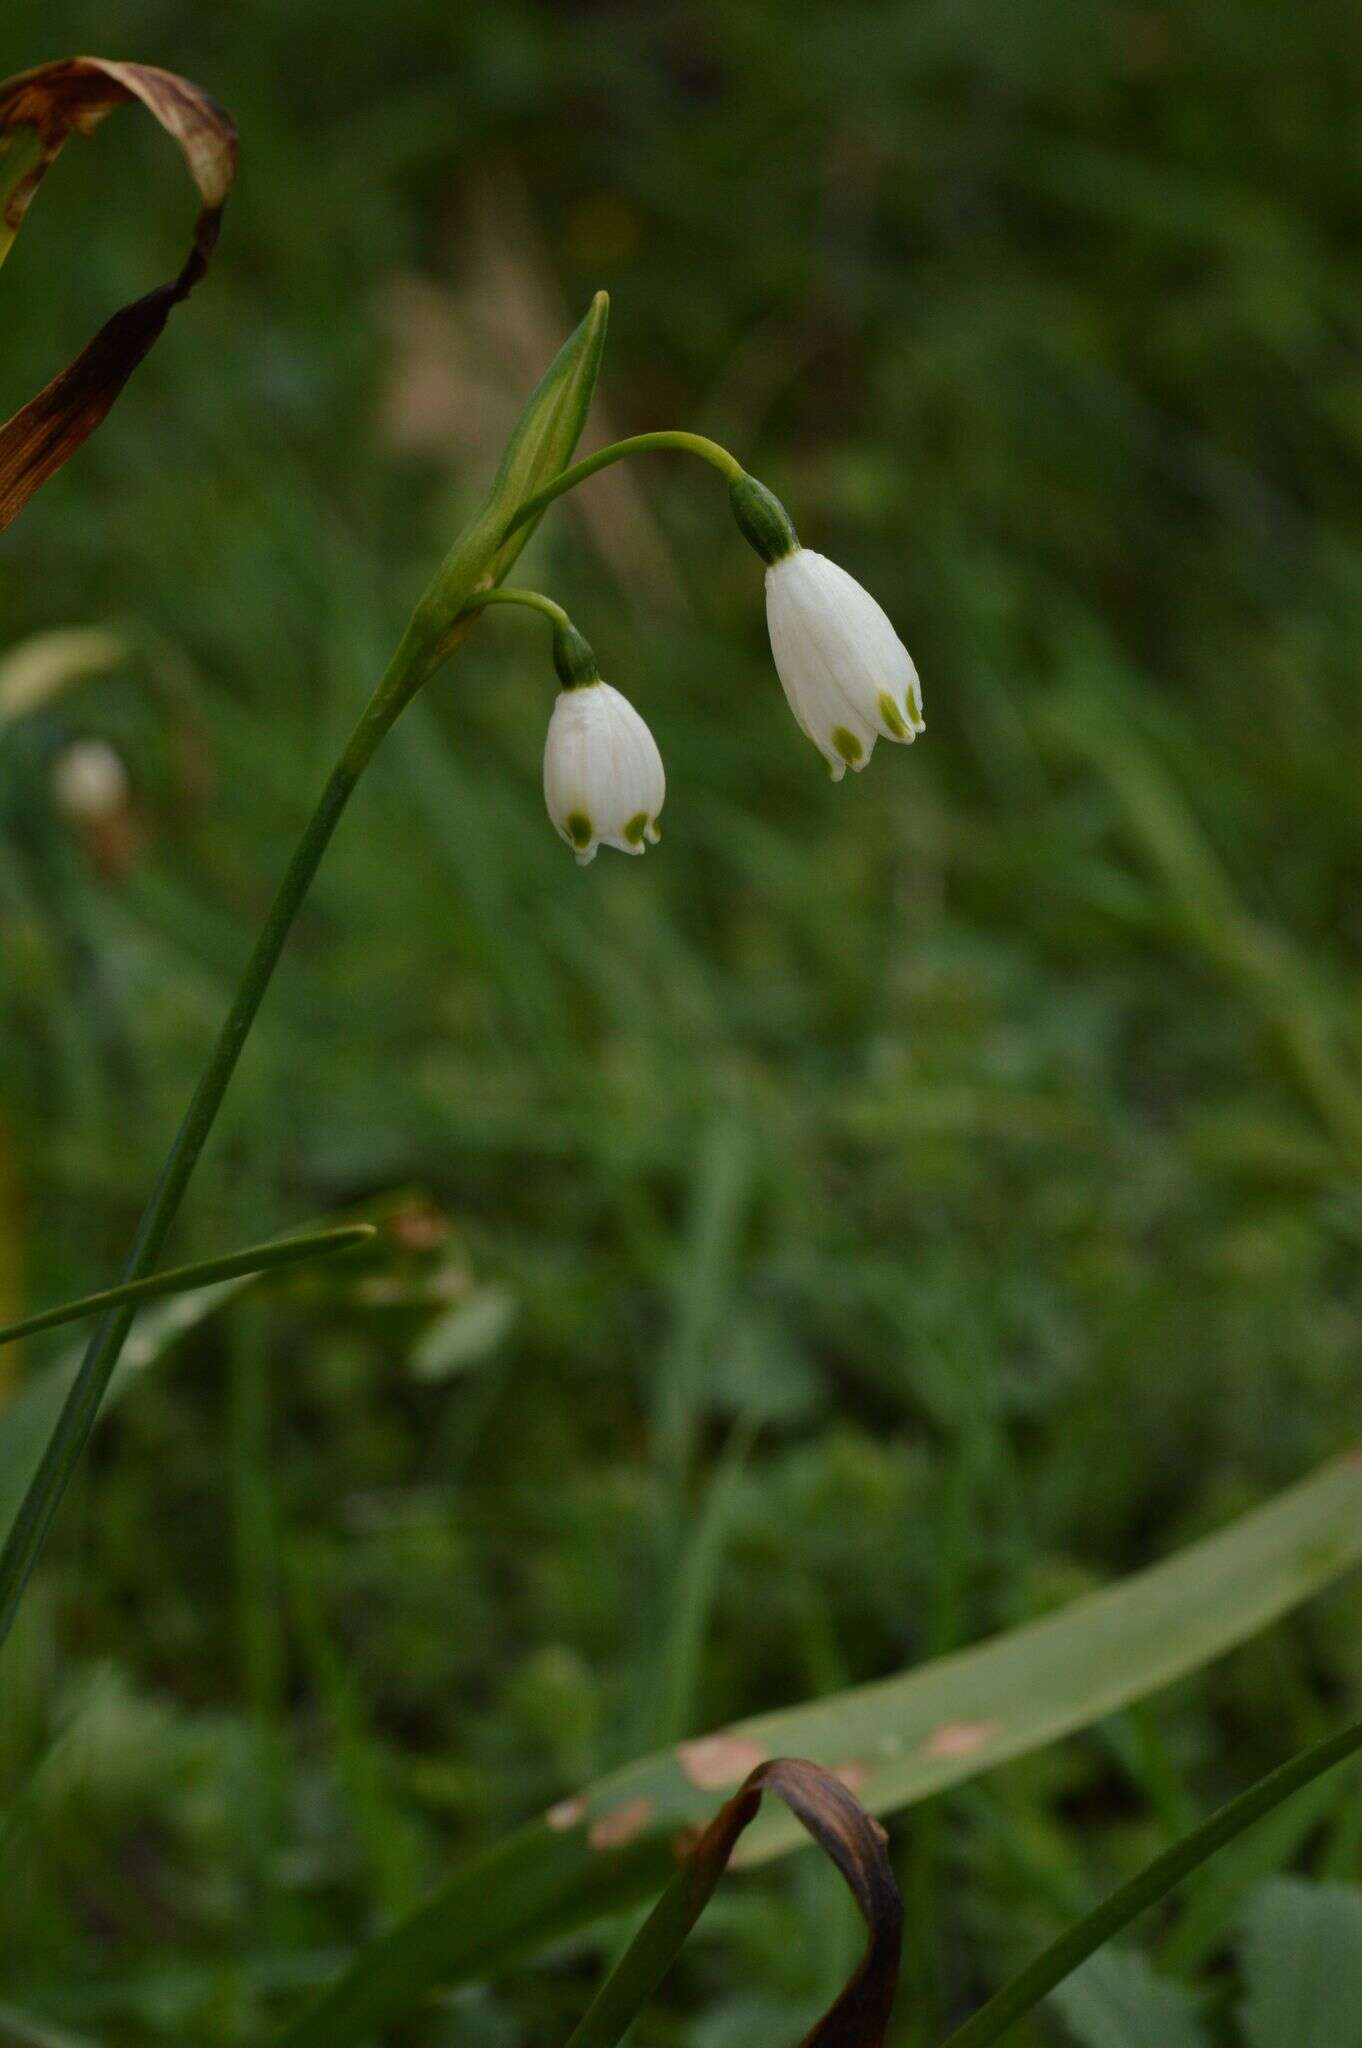
<path fill-rule="evenodd" d="M 821 1763 L 772 1757 L 758 1763 L 688 1849 L 700 1905 L 727 1868 L 737 1837 L 756 1819 L 762 1794 L 774 1792 L 846 1878 L 870 1929 L 866 1952 L 842 1995 L 801 2048 L 881 2048 L 899 1982 L 903 1901 L 889 1862 L 885 1829 Z M 698 1911 L 698 1909 L 696 1909 Z"/>

